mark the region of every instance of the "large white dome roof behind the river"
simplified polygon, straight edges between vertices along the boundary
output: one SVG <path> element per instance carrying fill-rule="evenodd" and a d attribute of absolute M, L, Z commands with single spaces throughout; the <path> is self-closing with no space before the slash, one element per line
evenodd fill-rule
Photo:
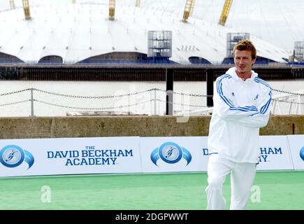
<path fill-rule="evenodd" d="M 201 19 L 187 23 L 164 10 L 117 5 L 115 20 L 108 20 L 108 4 L 58 3 L 31 6 L 31 20 L 22 8 L 0 13 L 0 52 L 37 63 L 48 55 L 62 57 L 66 64 L 109 52 L 147 54 L 147 31 L 173 32 L 174 62 L 189 63 L 202 57 L 219 64 L 226 57 L 226 34 L 240 32 Z M 250 36 L 257 55 L 284 62 L 289 53 Z"/>

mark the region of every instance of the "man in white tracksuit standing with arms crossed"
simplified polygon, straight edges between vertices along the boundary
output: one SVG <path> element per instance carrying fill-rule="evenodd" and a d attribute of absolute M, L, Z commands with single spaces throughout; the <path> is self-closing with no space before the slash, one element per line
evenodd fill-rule
<path fill-rule="evenodd" d="M 246 209 L 259 162 L 259 128 L 268 123 L 271 90 L 252 71 L 256 48 L 249 40 L 233 48 L 235 67 L 217 78 L 208 136 L 207 209 L 225 209 L 222 186 L 231 174 L 230 209 Z"/>

